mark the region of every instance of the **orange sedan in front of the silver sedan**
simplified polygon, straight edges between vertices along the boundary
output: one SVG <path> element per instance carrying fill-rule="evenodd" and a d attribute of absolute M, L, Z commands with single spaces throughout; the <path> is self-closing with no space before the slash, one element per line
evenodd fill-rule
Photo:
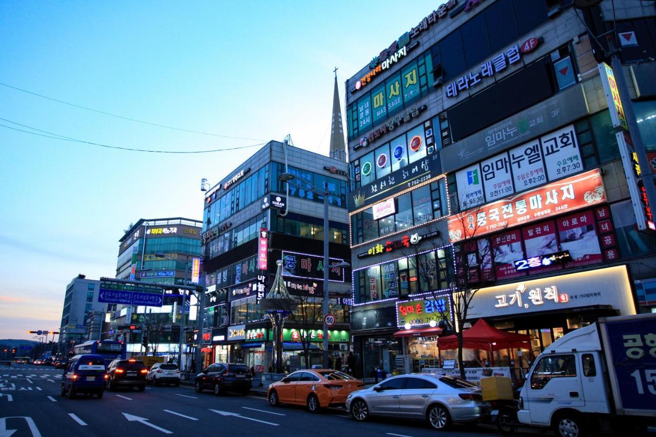
<path fill-rule="evenodd" d="M 304 405 L 312 413 L 323 407 L 344 406 L 346 397 L 365 388 L 359 379 L 332 369 L 298 370 L 272 383 L 266 398 L 272 406 Z"/>

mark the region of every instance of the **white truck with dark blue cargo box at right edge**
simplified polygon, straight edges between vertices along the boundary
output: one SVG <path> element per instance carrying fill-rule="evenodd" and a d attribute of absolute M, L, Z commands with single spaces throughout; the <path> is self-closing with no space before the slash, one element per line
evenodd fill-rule
<path fill-rule="evenodd" d="M 656 435 L 656 314 L 602 318 L 554 341 L 520 392 L 518 420 L 557 436 Z"/>

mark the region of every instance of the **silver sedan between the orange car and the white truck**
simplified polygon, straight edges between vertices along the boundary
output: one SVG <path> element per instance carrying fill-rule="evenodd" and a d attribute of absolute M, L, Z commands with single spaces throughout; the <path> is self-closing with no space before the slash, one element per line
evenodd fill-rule
<path fill-rule="evenodd" d="M 357 421 L 371 416 L 424 419 L 436 430 L 452 423 L 478 422 L 487 416 L 481 389 L 447 375 L 411 373 L 348 395 L 346 409 Z"/>

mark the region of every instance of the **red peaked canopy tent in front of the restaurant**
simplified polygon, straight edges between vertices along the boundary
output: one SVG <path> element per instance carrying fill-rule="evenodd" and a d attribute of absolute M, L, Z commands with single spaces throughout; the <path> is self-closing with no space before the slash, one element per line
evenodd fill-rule
<path fill-rule="evenodd" d="M 508 348 L 530 348 L 531 336 L 527 334 L 515 334 L 501 331 L 479 319 L 462 333 L 462 346 L 468 349 L 501 350 Z M 449 335 L 438 339 L 440 349 L 457 349 L 458 337 Z"/>

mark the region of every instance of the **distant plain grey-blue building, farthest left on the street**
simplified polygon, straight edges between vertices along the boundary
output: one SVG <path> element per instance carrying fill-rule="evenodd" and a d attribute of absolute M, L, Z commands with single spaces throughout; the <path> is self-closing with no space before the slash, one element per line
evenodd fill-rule
<path fill-rule="evenodd" d="M 100 339 L 105 304 L 98 302 L 100 281 L 88 280 L 83 274 L 66 285 L 62 323 L 59 328 L 60 350 L 75 344 Z"/>

